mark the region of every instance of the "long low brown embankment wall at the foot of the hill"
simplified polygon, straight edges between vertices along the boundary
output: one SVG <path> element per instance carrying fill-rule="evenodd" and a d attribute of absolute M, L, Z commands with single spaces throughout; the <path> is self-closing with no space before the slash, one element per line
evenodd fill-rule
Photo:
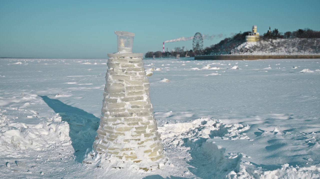
<path fill-rule="evenodd" d="M 195 60 L 260 60 L 260 59 L 308 59 L 319 55 L 199 55 Z"/>

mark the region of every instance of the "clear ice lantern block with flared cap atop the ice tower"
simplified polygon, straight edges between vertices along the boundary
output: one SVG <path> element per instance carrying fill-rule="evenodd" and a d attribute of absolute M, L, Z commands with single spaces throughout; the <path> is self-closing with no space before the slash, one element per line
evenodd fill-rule
<path fill-rule="evenodd" d="M 115 31 L 118 41 L 118 53 L 132 53 L 134 33 Z"/>

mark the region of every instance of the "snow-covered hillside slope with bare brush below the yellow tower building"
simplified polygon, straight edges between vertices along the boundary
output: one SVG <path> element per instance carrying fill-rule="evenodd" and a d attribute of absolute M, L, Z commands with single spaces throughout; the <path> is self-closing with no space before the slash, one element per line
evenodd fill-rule
<path fill-rule="evenodd" d="M 320 39 L 292 38 L 244 42 L 231 54 L 320 54 Z"/>

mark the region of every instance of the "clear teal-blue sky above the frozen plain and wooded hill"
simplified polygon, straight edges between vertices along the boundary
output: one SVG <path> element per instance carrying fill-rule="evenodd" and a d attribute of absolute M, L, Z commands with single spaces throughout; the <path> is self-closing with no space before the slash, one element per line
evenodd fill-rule
<path fill-rule="evenodd" d="M 162 42 L 268 27 L 320 30 L 320 1 L 19 1 L 0 0 L 0 57 L 107 58 L 114 31 L 136 34 L 134 53 L 162 51 Z M 204 40 L 210 46 L 222 40 Z M 192 47 L 192 41 L 166 43 Z"/>

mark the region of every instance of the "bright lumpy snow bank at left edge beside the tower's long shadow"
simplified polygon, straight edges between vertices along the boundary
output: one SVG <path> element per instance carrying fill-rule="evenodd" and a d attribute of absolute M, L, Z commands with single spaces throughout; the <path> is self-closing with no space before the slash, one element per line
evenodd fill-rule
<path fill-rule="evenodd" d="M 49 121 L 38 124 L 9 122 L 6 116 L 0 119 L 0 152 L 12 154 L 12 151 L 32 149 L 36 151 L 71 143 L 69 125 L 61 122 L 57 114 Z"/>

